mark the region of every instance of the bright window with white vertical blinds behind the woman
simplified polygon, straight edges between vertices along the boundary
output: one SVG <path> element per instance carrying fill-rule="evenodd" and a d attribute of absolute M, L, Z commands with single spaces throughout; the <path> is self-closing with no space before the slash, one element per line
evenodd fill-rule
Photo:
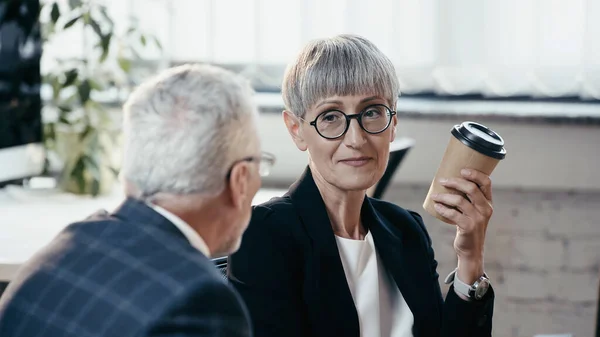
<path fill-rule="evenodd" d="M 164 54 L 146 57 L 224 65 L 258 90 L 278 90 L 308 40 L 357 33 L 393 60 L 404 93 L 600 99 L 596 0 L 106 2 L 161 38 Z M 59 51 L 77 48 L 45 57 Z"/>

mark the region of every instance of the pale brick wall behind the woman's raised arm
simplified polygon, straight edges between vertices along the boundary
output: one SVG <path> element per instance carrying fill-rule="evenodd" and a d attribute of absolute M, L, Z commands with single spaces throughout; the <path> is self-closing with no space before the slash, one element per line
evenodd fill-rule
<path fill-rule="evenodd" d="M 423 215 L 442 283 L 456 266 L 455 229 L 423 211 L 427 187 L 393 186 L 385 199 Z M 497 296 L 493 335 L 593 336 L 600 282 L 600 192 L 496 189 L 494 206 L 485 252 Z M 443 284 L 442 289 L 447 291 Z"/>

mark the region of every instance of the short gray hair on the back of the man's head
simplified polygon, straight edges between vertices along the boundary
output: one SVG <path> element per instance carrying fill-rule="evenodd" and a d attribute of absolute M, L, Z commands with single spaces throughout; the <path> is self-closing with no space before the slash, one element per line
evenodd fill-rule
<path fill-rule="evenodd" d="M 247 81 L 208 65 L 143 83 L 124 106 L 121 178 L 136 197 L 220 193 L 231 165 L 258 148 L 252 96 Z"/>

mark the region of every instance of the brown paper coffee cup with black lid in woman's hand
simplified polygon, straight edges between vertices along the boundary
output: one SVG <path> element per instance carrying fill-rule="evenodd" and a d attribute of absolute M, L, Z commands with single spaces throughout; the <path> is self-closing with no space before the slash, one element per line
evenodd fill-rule
<path fill-rule="evenodd" d="M 475 122 L 463 122 L 451 130 L 450 141 L 444 152 L 444 157 L 433 178 L 423 208 L 434 217 L 448 222 L 438 214 L 433 207 L 432 194 L 451 193 L 462 194 L 456 190 L 447 189 L 440 185 L 441 178 L 461 178 L 460 171 L 464 168 L 492 174 L 498 162 L 506 156 L 504 140 L 491 129 Z"/>

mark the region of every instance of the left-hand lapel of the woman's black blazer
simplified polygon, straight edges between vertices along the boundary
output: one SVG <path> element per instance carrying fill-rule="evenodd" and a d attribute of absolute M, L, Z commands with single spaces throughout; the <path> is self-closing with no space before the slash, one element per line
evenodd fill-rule
<path fill-rule="evenodd" d="M 329 329 L 315 332 L 322 336 L 358 337 L 356 307 L 325 203 L 309 168 L 292 185 L 288 195 L 311 239 L 312 255 L 307 259 L 305 295 L 311 311 L 316 310 L 309 314 L 318 322 L 315 326 Z"/>

